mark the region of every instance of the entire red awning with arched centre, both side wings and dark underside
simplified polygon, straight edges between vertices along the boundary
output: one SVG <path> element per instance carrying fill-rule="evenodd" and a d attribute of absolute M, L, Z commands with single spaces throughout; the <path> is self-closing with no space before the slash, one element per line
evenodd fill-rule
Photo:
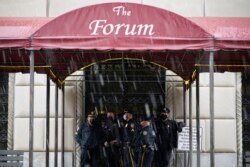
<path fill-rule="evenodd" d="M 250 18 L 186 19 L 133 3 L 87 6 L 57 18 L 0 18 L 0 67 L 29 72 L 29 50 L 35 49 L 35 70 L 49 68 L 61 81 L 91 63 L 119 58 L 154 62 L 189 80 L 197 62 L 208 63 L 205 50 L 216 49 L 215 64 L 237 65 L 217 71 L 240 71 L 250 64 L 249 23 Z"/>

